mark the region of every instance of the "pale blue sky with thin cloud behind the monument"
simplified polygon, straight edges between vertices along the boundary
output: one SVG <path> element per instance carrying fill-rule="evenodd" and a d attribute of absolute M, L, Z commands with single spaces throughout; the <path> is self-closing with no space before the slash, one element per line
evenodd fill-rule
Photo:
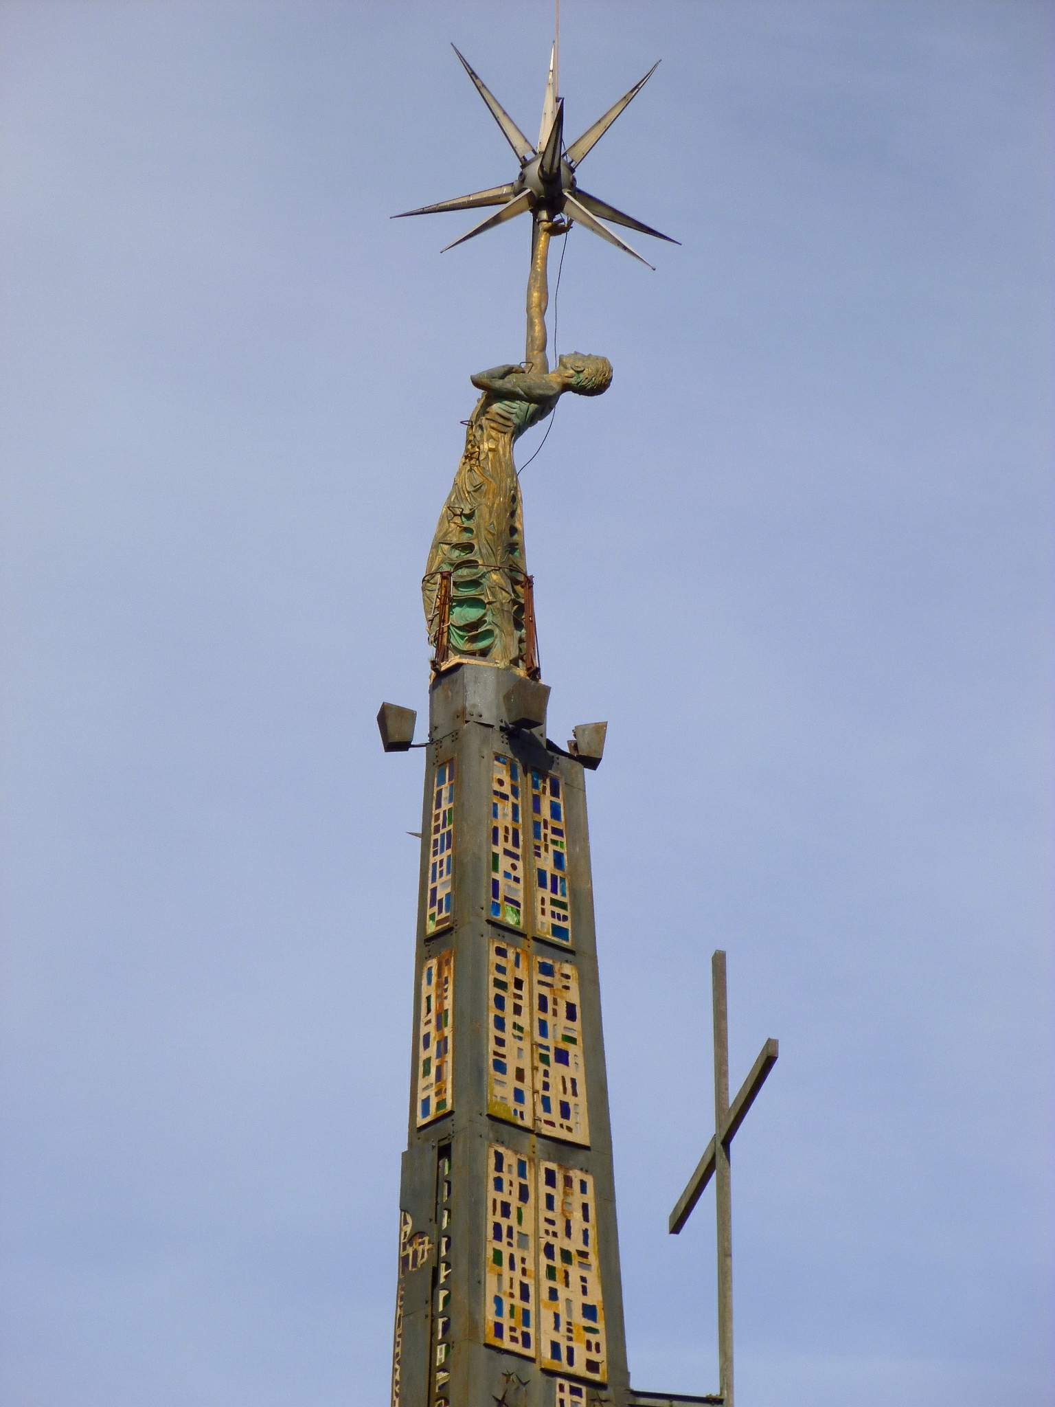
<path fill-rule="evenodd" d="M 575 132 L 663 58 L 582 179 L 684 241 L 651 274 L 573 232 L 558 348 L 615 381 L 523 480 L 554 736 L 610 725 L 633 1379 L 716 1387 L 710 1195 L 665 1218 L 724 947 L 733 1081 L 781 1038 L 741 1400 L 1041 1401 L 1051 8 L 563 11 Z M 418 581 L 528 238 L 387 217 L 509 179 L 447 42 L 533 131 L 549 27 L 0 11 L 11 1407 L 385 1400 L 421 764 L 373 718 L 426 709 Z"/>

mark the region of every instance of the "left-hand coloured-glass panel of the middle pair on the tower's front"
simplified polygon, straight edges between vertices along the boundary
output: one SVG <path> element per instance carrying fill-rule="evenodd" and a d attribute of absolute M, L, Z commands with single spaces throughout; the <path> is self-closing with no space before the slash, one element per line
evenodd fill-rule
<path fill-rule="evenodd" d="M 528 1128 L 535 1119 L 529 962 L 512 943 L 491 940 L 487 1112 Z"/>

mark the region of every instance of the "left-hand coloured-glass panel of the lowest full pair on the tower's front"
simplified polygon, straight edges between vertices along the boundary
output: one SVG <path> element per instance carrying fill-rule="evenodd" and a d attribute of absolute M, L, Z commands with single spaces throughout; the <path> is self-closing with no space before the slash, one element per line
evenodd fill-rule
<path fill-rule="evenodd" d="M 535 1159 L 488 1148 L 484 1342 L 535 1358 Z"/>

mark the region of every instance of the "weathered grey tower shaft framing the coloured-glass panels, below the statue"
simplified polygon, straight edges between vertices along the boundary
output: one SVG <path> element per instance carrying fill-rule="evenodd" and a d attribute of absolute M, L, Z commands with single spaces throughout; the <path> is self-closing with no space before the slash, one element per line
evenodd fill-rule
<path fill-rule="evenodd" d="M 544 704 L 549 691 L 544 685 L 532 685 L 525 692 L 523 685 L 530 682 L 509 670 L 463 664 L 440 674 L 432 687 L 421 827 L 411 1100 L 399 1206 L 414 1218 L 414 1230 L 429 1235 L 433 1247 L 437 1247 L 443 1233 L 436 1224 L 436 1162 L 440 1147 L 449 1144 L 453 1183 L 447 1230 L 453 1262 L 449 1306 L 453 1352 L 449 1359 L 452 1377 L 447 1396 L 452 1407 L 456 1403 L 459 1407 L 491 1407 L 492 1400 L 501 1401 L 504 1394 L 508 1407 L 553 1407 L 556 1389 L 551 1375 L 544 1373 L 532 1359 L 484 1344 L 485 1256 L 490 1245 L 488 1145 L 501 1142 L 518 1154 L 589 1172 L 595 1185 L 595 1235 L 605 1309 L 608 1384 L 601 1389 L 591 1386 L 587 1401 L 592 1401 L 596 1394 L 606 1407 L 630 1407 L 634 1399 L 630 1396 L 626 1368 L 584 774 L 573 758 L 547 750 Z M 518 727 L 518 720 L 530 726 Z M 565 944 L 529 940 L 526 934 L 490 919 L 491 770 L 497 751 L 516 756 L 528 768 L 549 770 L 561 778 L 568 839 L 568 892 L 574 916 L 571 953 Z M 456 761 L 453 924 L 426 940 L 432 785 L 436 768 L 449 758 Z M 542 1137 L 487 1113 L 488 940 L 492 936 L 525 950 L 547 950 L 556 957 L 574 961 L 578 968 L 591 1130 L 588 1148 Z M 453 1112 L 419 1130 L 415 1069 L 422 968 L 428 958 L 443 948 L 454 953 Z M 394 1216 L 394 1240 L 397 1223 Z M 436 1255 L 433 1249 L 430 1265 L 412 1272 L 404 1283 L 401 1407 L 432 1407 L 429 1372 L 435 1314 L 432 1273 Z M 526 1383 L 520 1386 L 519 1380 L 523 1379 Z"/>

